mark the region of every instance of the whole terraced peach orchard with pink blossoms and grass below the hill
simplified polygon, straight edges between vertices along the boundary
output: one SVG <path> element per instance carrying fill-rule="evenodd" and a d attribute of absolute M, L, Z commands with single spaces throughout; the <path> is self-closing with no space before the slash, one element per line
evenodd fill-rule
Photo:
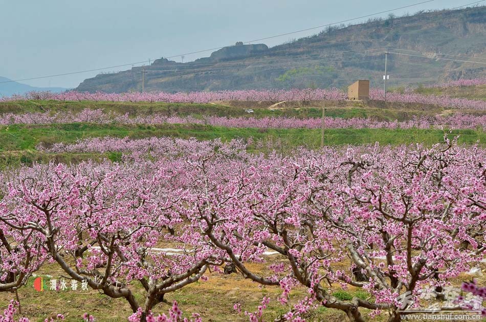
<path fill-rule="evenodd" d="M 31 275 L 17 294 L 0 292 L 0 307 L 17 296 L 15 316 L 32 321 L 55 320 L 58 313 L 69 321 L 83 320 L 84 313 L 97 321 L 125 320 L 132 303 L 153 304 L 154 316 L 181 309 L 184 317 L 197 313 L 204 321 L 274 320 L 288 312 L 296 321 L 399 321 L 385 291 L 405 289 L 395 276 L 460 289 L 477 266 L 474 277 L 484 285 L 486 106 L 477 104 L 483 86 L 418 89 L 466 98 L 474 108 L 413 100 L 0 102 L 0 216 L 6 218 L 0 239 L 11 231 L 5 235 L 17 247 L 17 253 L 6 243 L 0 247 L 0 282 L 7 284 L 12 267 L 25 265 Z M 302 126 L 289 125 L 296 122 Z M 326 202 L 332 212 L 324 210 Z M 273 221 L 265 219 L 269 214 Z M 28 234 L 26 225 L 38 229 Z M 428 240 L 431 234 L 435 240 Z M 26 259 L 27 244 L 36 249 L 34 259 Z M 100 248 L 87 251 L 88 244 Z M 169 248 L 187 253 L 168 254 Z M 269 250 L 280 254 L 263 254 Z M 373 263 L 361 269 L 375 289 L 351 273 L 359 258 Z M 232 261 L 238 273 L 218 271 Z M 160 294 L 147 300 L 153 289 L 144 283 L 186 270 L 193 271 L 179 282 L 197 278 L 174 290 L 176 282 L 167 284 L 163 300 Z M 69 281 L 91 279 L 94 271 L 105 284 L 69 289 Z M 296 277 L 299 272 L 305 276 Z M 414 280 L 419 273 L 425 282 Z M 43 291 L 34 289 L 38 277 Z M 313 284 L 316 277 L 322 286 Z M 67 280 L 68 289 L 50 290 L 53 279 Z M 310 291 L 318 300 L 308 300 Z M 174 301 L 179 308 L 170 311 Z M 326 301 L 328 307 L 321 305 Z M 365 302 L 358 316 L 352 305 Z M 147 312 L 138 320 L 149 320 Z"/>

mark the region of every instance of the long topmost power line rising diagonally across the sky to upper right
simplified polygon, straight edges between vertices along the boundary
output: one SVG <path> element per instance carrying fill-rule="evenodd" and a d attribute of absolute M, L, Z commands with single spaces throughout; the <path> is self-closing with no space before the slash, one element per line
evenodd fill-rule
<path fill-rule="evenodd" d="M 435 1 L 435 0 L 427 0 L 427 1 L 419 2 L 419 3 L 415 3 L 415 4 L 412 4 L 412 5 L 403 6 L 403 7 L 399 7 L 399 8 L 395 8 L 395 9 L 390 9 L 390 10 L 385 10 L 385 11 L 381 11 L 381 12 L 377 12 L 377 13 L 373 13 L 373 14 L 369 14 L 369 15 L 365 15 L 365 16 L 361 16 L 361 17 L 357 17 L 357 18 L 346 19 L 346 20 L 342 20 L 342 21 L 339 21 L 339 22 L 333 22 L 332 24 L 326 24 L 326 25 L 322 25 L 322 26 L 318 26 L 318 27 L 313 27 L 313 28 L 302 29 L 302 30 L 298 30 L 298 31 L 290 32 L 290 33 L 284 33 L 284 34 L 279 34 L 279 35 L 275 35 L 275 36 L 270 36 L 270 37 L 265 37 L 265 38 L 260 38 L 260 39 L 254 39 L 254 40 L 250 40 L 250 41 L 245 41 L 244 43 L 250 43 L 250 42 L 264 40 L 264 39 L 276 38 L 276 37 L 290 35 L 290 34 L 299 33 L 299 32 L 303 32 L 303 31 L 308 31 L 308 30 L 323 28 L 323 27 L 327 27 L 327 26 L 342 24 L 343 22 L 348 22 L 348 21 L 352 21 L 352 20 L 362 19 L 362 18 L 366 18 L 366 17 L 370 17 L 370 16 L 374 16 L 374 15 L 378 15 L 378 14 L 382 14 L 382 13 L 386 13 L 386 12 L 395 11 L 395 10 L 405 9 L 405 8 L 409 8 L 409 7 L 421 5 L 421 4 L 424 4 L 424 3 L 433 2 L 433 1 Z M 483 1 L 486 1 L 486 0 L 481 0 L 479 2 L 483 2 Z M 476 2 L 476 3 L 479 3 L 479 2 Z M 473 4 L 475 4 L 475 3 L 473 3 Z M 468 5 L 470 5 L 470 4 L 468 4 Z M 468 6 L 468 5 L 465 5 L 465 6 Z M 203 52 L 207 52 L 207 51 L 218 50 L 218 49 L 222 49 L 224 47 L 232 47 L 232 46 L 234 46 L 234 45 L 217 47 L 217 48 L 212 48 L 212 49 L 205 49 L 205 50 L 201 50 L 201 51 L 195 51 L 195 52 L 192 52 L 192 53 L 185 53 L 185 54 L 179 54 L 179 55 L 169 56 L 169 57 L 166 57 L 166 58 L 173 58 L 173 57 L 179 57 L 179 56 L 182 56 L 182 55 L 190 55 L 190 54 L 196 54 L 196 53 L 203 53 Z M 56 74 L 56 75 L 39 76 L 39 77 L 31 77 L 31 78 L 24 78 L 24 79 L 16 79 L 16 80 L 10 80 L 10 81 L 3 81 L 3 82 L 0 82 L 0 84 L 2 84 L 2 83 L 10 83 L 10 82 L 26 81 L 26 80 L 35 80 L 35 79 L 41 79 L 41 78 L 50 78 L 50 77 L 74 75 L 74 74 L 81 74 L 81 73 L 88 73 L 88 72 L 96 72 L 96 71 L 106 70 L 106 69 L 109 69 L 109 68 L 116 68 L 116 67 L 123 67 L 123 66 L 141 64 L 141 63 L 144 63 L 144 62 L 147 62 L 147 60 L 140 61 L 140 62 L 134 62 L 134 63 L 121 64 L 121 65 L 116 65 L 116 66 L 109 66 L 109 67 L 102 67 L 102 68 L 94 68 L 92 70 L 85 70 L 85 71 L 78 71 L 78 72 L 71 72 L 71 73 L 62 73 L 62 74 Z"/>

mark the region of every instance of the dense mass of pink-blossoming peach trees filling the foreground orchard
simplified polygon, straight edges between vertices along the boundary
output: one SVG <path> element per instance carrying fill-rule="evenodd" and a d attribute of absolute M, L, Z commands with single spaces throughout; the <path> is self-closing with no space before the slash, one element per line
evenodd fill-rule
<path fill-rule="evenodd" d="M 29 274 L 49 260 L 71 279 L 124 298 L 136 321 L 153 320 L 151 310 L 165 294 L 231 262 L 244 277 L 282 289 L 279 300 L 289 308 L 282 320 L 303 320 L 324 306 L 354 321 L 365 319 L 363 309 L 399 321 L 419 306 L 423 286 L 432 284 L 440 298 L 451 278 L 484 258 L 482 148 L 446 140 L 432 148 L 375 145 L 282 156 L 250 154 L 239 143 L 188 141 L 182 148 L 166 142 L 164 151 L 155 161 L 134 152 L 119 164 L 5 172 L 0 223 L 20 250 L 2 257 L 3 269 L 29 257 L 35 259 Z M 279 261 L 265 256 L 269 249 Z M 296 286 L 308 295 L 291 302 Z M 368 296 L 342 300 L 333 295 L 338 288 Z M 268 301 L 247 313 L 250 320 L 262 318 Z M 179 309 L 171 312 L 181 319 Z"/>

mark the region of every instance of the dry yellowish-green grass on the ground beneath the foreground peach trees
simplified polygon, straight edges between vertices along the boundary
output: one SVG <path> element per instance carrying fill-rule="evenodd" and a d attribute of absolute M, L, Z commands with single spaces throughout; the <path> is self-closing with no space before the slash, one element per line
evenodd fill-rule
<path fill-rule="evenodd" d="M 279 261 L 275 256 L 272 261 Z M 341 263 L 343 267 L 347 262 Z M 247 267 L 255 273 L 265 274 L 268 266 L 259 263 L 247 263 Z M 64 314 L 67 321 L 81 321 L 81 315 L 86 312 L 94 315 L 98 322 L 126 320 L 131 314 L 127 302 L 123 299 L 109 298 L 97 291 L 83 291 L 80 288 L 73 291 L 70 288 L 70 281 L 67 281 L 67 290 L 51 291 L 49 289 L 50 280 L 64 277 L 64 273 L 55 264 L 43 265 L 37 275 L 44 281 L 44 290 L 35 291 L 33 288 L 34 278 L 30 278 L 27 285 L 18 290 L 23 316 L 27 316 L 31 321 L 43 321 L 47 316 L 55 316 L 57 313 Z M 270 297 L 271 302 L 268 309 L 264 310 L 264 321 L 272 321 L 281 314 L 288 312 L 290 308 L 299 300 L 308 295 L 304 287 L 297 286 L 292 289 L 289 296 L 289 304 L 281 305 L 278 297 L 281 289 L 277 286 L 260 286 L 249 279 L 245 279 L 241 274 L 221 274 L 217 272 L 206 272 L 208 281 L 198 281 L 189 284 L 184 288 L 167 293 L 165 299 L 167 303 L 160 303 L 154 307 L 155 314 L 167 313 L 173 301 L 177 301 L 183 310 L 184 316 L 190 318 L 192 313 L 200 313 L 204 321 L 246 321 L 248 318 L 244 313 L 238 314 L 234 311 L 233 305 L 238 303 L 241 310 L 255 312 L 264 296 Z M 451 282 L 453 285 L 460 285 L 461 281 L 468 280 L 468 275 L 460 275 Z M 484 278 L 478 278 L 478 283 L 483 285 Z M 79 286 L 79 285 L 78 285 Z M 137 284 L 130 285 L 139 303 L 143 302 L 143 290 Z M 353 297 L 358 297 L 373 301 L 373 297 L 365 290 L 348 287 L 342 289 L 336 283 L 330 287 L 330 292 L 342 301 L 349 301 Z M 0 292 L 0 308 L 7 306 L 9 300 L 14 298 L 14 294 Z M 429 306 L 433 302 L 424 302 L 423 307 Z M 369 310 L 360 309 L 363 317 L 367 321 L 385 322 L 387 313 L 383 312 L 376 317 L 369 317 Z M 343 312 L 318 306 L 305 315 L 308 321 L 328 321 L 341 322 L 346 319 Z"/>

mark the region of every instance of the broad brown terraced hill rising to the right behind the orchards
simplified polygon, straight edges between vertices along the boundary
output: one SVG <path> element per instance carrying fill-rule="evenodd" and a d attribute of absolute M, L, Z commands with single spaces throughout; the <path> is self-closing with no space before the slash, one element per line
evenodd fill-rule
<path fill-rule="evenodd" d="M 145 66 L 145 90 L 341 88 L 357 79 L 369 79 L 377 87 L 383 82 L 385 48 L 391 52 L 390 87 L 486 77 L 486 65 L 464 62 L 471 57 L 486 62 L 481 58 L 486 57 L 486 6 L 390 14 L 363 24 L 328 27 L 272 48 L 237 42 L 186 63 L 158 59 Z M 429 59 L 416 57 L 422 55 Z M 140 91 L 142 67 L 97 75 L 77 89 Z"/>

